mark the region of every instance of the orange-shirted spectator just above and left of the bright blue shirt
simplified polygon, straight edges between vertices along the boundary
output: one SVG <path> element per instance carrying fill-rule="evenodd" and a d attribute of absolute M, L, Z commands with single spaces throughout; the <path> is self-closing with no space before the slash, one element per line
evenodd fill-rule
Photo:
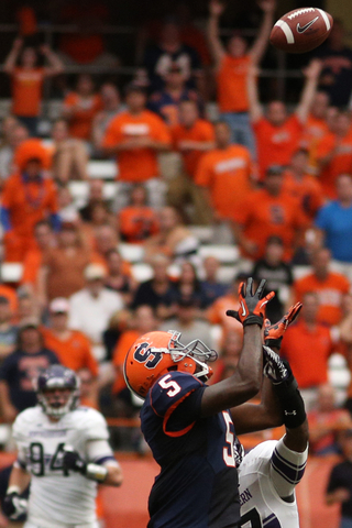
<path fill-rule="evenodd" d="M 297 198 L 301 210 L 314 220 L 323 205 L 323 195 L 319 180 L 308 174 L 308 151 L 299 148 L 293 154 L 284 175 L 284 190 Z"/>

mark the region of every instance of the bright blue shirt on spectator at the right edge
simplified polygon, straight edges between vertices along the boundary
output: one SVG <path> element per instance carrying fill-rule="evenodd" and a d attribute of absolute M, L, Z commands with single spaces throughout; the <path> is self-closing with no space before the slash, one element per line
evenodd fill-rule
<path fill-rule="evenodd" d="M 316 218 L 316 227 L 326 233 L 326 246 L 332 257 L 352 262 L 352 206 L 342 207 L 339 201 L 323 206 Z"/>

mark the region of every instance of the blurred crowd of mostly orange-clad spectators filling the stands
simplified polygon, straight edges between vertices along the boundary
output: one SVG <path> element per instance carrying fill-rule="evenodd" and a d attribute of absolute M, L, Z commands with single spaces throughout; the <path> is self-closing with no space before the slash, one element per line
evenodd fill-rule
<path fill-rule="evenodd" d="M 226 8 L 218 0 L 204 33 L 186 19 L 151 24 L 135 78 L 120 90 L 78 75 L 45 138 L 44 79 L 73 63 L 119 61 L 91 32 L 66 35 L 55 53 L 23 36 L 13 42 L 3 64 L 12 107 L 1 123 L 1 252 L 2 263 L 22 272 L 19 282 L 0 284 L 4 422 L 34 404 L 32 378 L 55 362 L 79 373 L 87 404 L 109 417 L 136 416 L 124 355 L 156 329 L 217 346 L 213 380 L 229 376 L 241 326 L 226 310 L 238 308 L 239 284 L 251 275 L 275 292 L 272 321 L 304 304 L 282 350 L 310 413 L 311 451 L 336 452 L 340 429 L 352 428 L 352 382 L 344 409 L 329 385 L 333 353 L 352 371 L 352 51 L 336 22 L 302 70 L 295 109 L 263 105 L 260 67 L 276 4 L 258 6 L 251 46 L 239 33 L 222 42 Z M 66 16 L 79 22 L 77 10 Z M 80 23 L 95 16 L 107 21 L 92 10 Z M 208 112 L 211 86 L 217 120 Z M 116 163 L 111 199 L 103 180 L 89 177 L 91 160 Z M 77 180 L 89 188 L 85 204 L 72 195 Z M 230 280 L 221 279 L 216 254 L 201 258 L 194 226 L 207 227 L 212 244 L 239 249 Z M 123 244 L 139 249 L 146 279 L 124 258 Z"/>

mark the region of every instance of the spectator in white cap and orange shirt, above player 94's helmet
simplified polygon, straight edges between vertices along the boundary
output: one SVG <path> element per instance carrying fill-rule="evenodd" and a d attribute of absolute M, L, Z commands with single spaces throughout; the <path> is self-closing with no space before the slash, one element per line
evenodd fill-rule
<path fill-rule="evenodd" d="M 64 297 L 57 297 L 50 304 L 50 328 L 42 328 L 44 344 L 55 352 L 59 362 L 72 369 L 89 369 L 98 376 L 98 363 L 95 360 L 89 339 L 78 330 L 68 328 L 69 302 Z"/>

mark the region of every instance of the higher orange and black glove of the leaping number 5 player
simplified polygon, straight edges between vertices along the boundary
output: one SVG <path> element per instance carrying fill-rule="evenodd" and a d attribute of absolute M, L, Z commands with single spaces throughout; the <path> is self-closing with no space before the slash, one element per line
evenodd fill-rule
<path fill-rule="evenodd" d="M 266 280 L 261 280 L 261 284 L 253 294 L 253 278 L 250 277 L 244 288 L 244 283 L 239 287 L 239 300 L 240 310 L 228 310 L 227 316 L 234 317 L 238 321 L 242 322 L 243 327 L 248 324 L 258 324 L 261 328 L 265 319 L 266 304 L 274 297 L 275 293 L 271 292 L 263 297 L 264 286 Z"/>

